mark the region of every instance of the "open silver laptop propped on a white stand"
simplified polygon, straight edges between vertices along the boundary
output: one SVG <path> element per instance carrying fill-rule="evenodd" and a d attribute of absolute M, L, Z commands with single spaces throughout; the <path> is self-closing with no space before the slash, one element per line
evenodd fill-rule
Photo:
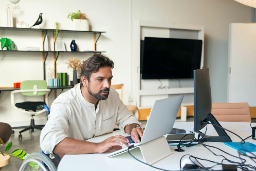
<path fill-rule="evenodd" d="M 134 144 L 133 147 L 147 143 L 172 131 L 184 95 L 156 100 L 153 103 L 141 142 Z M 131 147 L 131 148 L 133 148 Z M 106 155 L 112 157 L 125 152 L 128 147 L 117 150 Z"/>

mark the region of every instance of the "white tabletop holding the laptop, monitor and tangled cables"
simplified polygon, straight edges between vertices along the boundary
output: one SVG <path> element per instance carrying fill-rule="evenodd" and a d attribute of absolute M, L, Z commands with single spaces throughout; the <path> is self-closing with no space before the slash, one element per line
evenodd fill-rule
<path fill-rule="evenodd" d="M 239 131 L 238 129 L 249 127 L 250 123 L 245 122 L 220 122 L 221 126 L 224 128 L 237 133 L 242 138 L 246 138 L 251 133 L 249 132 L 243 132 Z M 181 128 L 181 129 L 188 129 L 190 131 L 193 131 L 194 128 L 194 122 L 177 122 L 174 124 L 175 128 Z M 202 132 L 205 131 L 205 128 L 201 130 Z M 91 138 L 90 142 L 101 142 L 105 138 L 109 136 L 114 136 L 120 134 L 119 131 L 115 131 L 113 133 L 105 134 L 99 137 Z M 240 142 L 241 140 L 234 134 L 227 132 L 228 135 L 231 137 L 233 142 Z M 217 135 L 212 125 L 208 125 L 207 129 L 207 135 Z M 121 133 L 122 135 L 122 133 Z M 256 140 L 253 140 L 251 137 L 246 140 L 247 142 L 251 142 L 253 144 L 256 144 Z M 238 156 L 237 150 L 225 145 L 224 143 L 217 143 L 217 142 L 206 142 L 207 145 L 216 146 L 230 154 Z M 172 151 L 177 148 L 177 146 L 169 146 Z M 217 157 L 213 155 L 208 149 L 203 147 L 201 144 L 192 146 L 192 147 L 183 147 L 182 149 L 185 149 L 185 152 L 175 152 L 162 160 L 158 161 L 157 163 L 153 164 L 153 166 L 169 169 L 169 170 L 179 170 L 179 160 L 180 158 L 185 154 L 191 154 L 196 157 L 210 159 L 211 161 L 221 162 L 223 159 L 222 157 Z M 228 159 L 231 159 L 233 161 L 241 161 L 240 159 L 234 158 L 230 155 L 227 155 L 218 149 L 210 148 L 214 153 L 216 154 L 222 154 L 223 156 L 226 156 Z M 111 153 L 103 153 L 103 154 L 79 154 L 79 155 L 65 155 L 62 160 L 60 161 L 60 164 L 58 166 L 58 170 L 158 170 L 155 168 L 152 168 L 150 166 L 147 166 L 145 164 L 142 164 L 135 159 L 133 159 L 128 153 L 124 153 L 118 156 L 114 156 L 111 158 L 107 158 L 106 154 Z M 186 157 L 184 157 L 186 158 Z M 242 158 L 245 158 L 246 164 L 252 164 L 255 166 L 255 163 L 251 161 L 250 158 L 247 158 L 245 156 L 242 156 Z M 205 166 L 212 166 L 213 163 L 209 162 L 201 162 L 202 164 L 205 164 Z M 220 169 L 221 166 L 215 167 L 214 169 Z M 240 170 L 240 169 L 239 169 Z"/>

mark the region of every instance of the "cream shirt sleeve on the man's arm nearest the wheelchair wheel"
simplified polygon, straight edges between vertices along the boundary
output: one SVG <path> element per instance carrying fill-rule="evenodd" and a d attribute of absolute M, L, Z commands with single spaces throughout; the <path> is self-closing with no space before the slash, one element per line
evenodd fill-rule
<path fill-rule="evenodd" d="M 51 105 L 51 112 L 48 121 L 41 131 L 40 147 L 46 154 L 54 158 L 54 147 L 64 138 L 68 137 L 69 118 L 67 113 L 70 108 L 66 104 L 54 103 Z"/>

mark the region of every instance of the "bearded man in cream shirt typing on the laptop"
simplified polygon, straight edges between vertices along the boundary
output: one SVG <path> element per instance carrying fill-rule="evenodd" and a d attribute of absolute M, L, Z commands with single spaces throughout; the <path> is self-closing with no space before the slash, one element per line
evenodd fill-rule
<path fill-rule="evenodd" d="M 51 105 L 45 127 L 40 135 L 40 147 L 50 157 L 65 154 L 103 153 L 121 149 L 128 139 L 121 135 L 100 143 L 87 142 L 89 138 L 112 132 L 118 125 L 132 140 L 140 142 L 144 130 L 141 123 L 122 103 L 119 94 L 111 88 L 113 61 L 103 55 L 93 55 L 81 66 L 79 86 L 60 94 Z"/>

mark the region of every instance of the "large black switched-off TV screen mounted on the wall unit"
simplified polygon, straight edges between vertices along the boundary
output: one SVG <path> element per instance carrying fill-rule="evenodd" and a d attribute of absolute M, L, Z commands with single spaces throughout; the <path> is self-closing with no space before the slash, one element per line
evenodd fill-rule
<path fill-rule="evenodd" d="M 193 78 L 200 69 L 202 40 L 145 37 L 141 43 L 142 79 Z"/>

